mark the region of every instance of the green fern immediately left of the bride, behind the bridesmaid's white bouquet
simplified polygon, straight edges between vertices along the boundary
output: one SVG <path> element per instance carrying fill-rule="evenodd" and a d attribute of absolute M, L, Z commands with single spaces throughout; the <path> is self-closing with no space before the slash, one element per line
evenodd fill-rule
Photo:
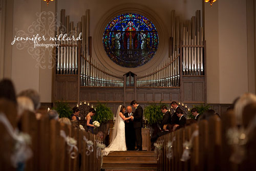
<path fill-rule="evenodd" d="M 106 123 L 107 121 L 113 118 L 113 112 L 108 106 L 106 106 L 106 103 L 102 104 L 98 102 L 95 110 L 96 110 L 96 113 L 93 116 L 93 121 L 96 120 L 101 124 L 101 123 Z"/>

